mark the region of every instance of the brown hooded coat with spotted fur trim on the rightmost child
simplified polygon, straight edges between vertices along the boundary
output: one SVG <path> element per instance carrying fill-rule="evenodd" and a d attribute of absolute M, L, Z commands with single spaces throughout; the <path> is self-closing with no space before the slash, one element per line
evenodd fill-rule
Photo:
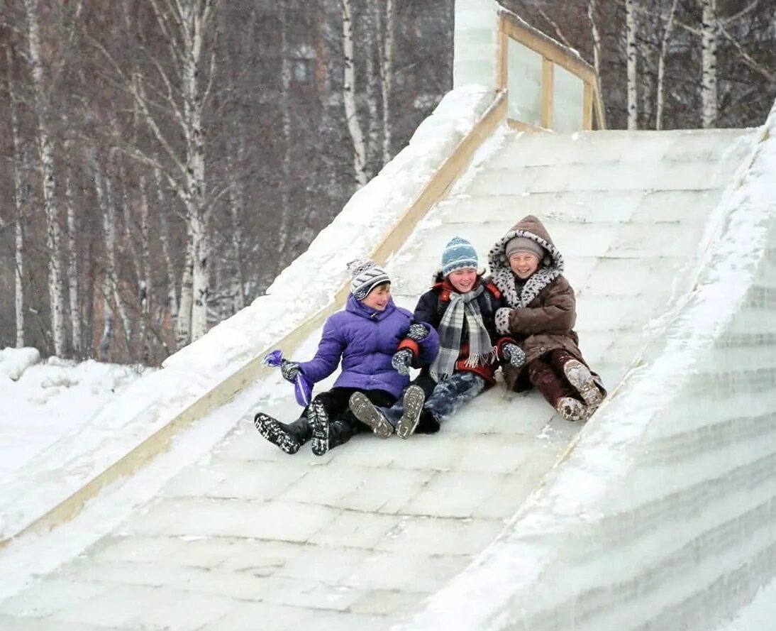
<path fill-rule="evenodd" d="M 539 269 L 525 281 L 514 275 L 507 259 L 505 248 L 514 237 L 528 237 L 546 251 Z M 562 348 L 585 363 L 579 349 L 579 337 L 573 330 L 577 321 L 574 290 L 563 276 L 563 255 L 542 222 L 528 215 L 514 224 L 491 248 L 488 264 L 494 283 L 509 305 L 508 309 L 497 311 L 498 332 L 512 335 L 525 352 L 525 363 L 521 368 L 510 364 L 504 366 L 504 381 L 509 390 L 519 392 L 531 387 L 526 370 L 528 362 L 556 348 Z"/>

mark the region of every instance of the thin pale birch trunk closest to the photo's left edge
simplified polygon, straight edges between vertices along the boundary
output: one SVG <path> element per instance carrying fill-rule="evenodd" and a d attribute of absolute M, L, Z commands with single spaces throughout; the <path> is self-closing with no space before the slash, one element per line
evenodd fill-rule
<path fill-rule="evenodd" d="M 13 67 L 11 47 L 6 47 L 8 60 L 8 94 L 11 110 L 11 155 L 13 162 L 13 201 L 16 208 L 16 234 L 14 235 L 14 305 L 16 310 L 16 348 L 24 346 L 24 183 L 22 165 L 24 162 L 22 146 L 19 143 L 19 120 L 16 115 L 16 90 L 13 85 Z"/>

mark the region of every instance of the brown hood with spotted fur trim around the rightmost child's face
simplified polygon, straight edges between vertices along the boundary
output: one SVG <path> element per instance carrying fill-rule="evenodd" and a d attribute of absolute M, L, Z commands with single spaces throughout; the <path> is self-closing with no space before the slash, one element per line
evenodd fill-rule
<path fill-rule="evenodd" d="M 539 269 L 525 281 L 521 289 L 518 289 L 515 284 L 517 276 L 512 272 L 506 255 L 507 243 L 514 237 L 531 239 L 541 245 L 546 252 Z M 507 234 L 496 241 L 496 244 L 488 252 L 487 260 L 494 283 L 501 290 L 509 306 L 513 308 L 526 307 L 539 295 L 542 289 L 563 275 L 565 267 L 563 255 L 555 247 L 546 227 L 533 215 L 523 217 L 517 224 L 514 224 Z"/>

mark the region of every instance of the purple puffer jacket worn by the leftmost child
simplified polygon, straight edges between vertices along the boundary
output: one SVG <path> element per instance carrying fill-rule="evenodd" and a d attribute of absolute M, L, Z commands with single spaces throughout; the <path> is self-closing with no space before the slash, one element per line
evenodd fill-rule
<path fill-rule="evenodd" d="M 413 322 L 412 314 L 393 300 L 385 310 L 376 311 L 351 294 L 345 309 L 324 324 L 315 357 L 300 363 L 300 369 L 308 380 L 317 382 L 334 373 L 341 358 L 342 373 L 334 387 L 384 390 L 399 397 L 410 378 L 397 373 L 391 359 Z M 439 350 L 437 332 L 428 324 L 426 328 L 428 337 L 417 345 L 419 367 L 430 364 Z"/>

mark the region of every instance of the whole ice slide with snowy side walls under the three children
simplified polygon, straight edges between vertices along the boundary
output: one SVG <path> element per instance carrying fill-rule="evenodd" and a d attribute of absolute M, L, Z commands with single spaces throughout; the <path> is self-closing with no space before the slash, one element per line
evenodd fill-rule
<path fill-rule="evenodd" d="M 0 629 L 695 631 L 774 577 L 776 111 L 546 134 L 507 109 L 454 90 L 268 296 L 123 397 L 104 442 L 72 437 L 3 490 Z M 314 352 L 345 262 L 387 259 L 412 307 L 449 237 L 484 258 L 529 212 L 611 392 L 587 425 L 497 387 L 435 436 L 323 458 L 258 437 L 258 408 L 298 408 L 256 360 Z"/>

